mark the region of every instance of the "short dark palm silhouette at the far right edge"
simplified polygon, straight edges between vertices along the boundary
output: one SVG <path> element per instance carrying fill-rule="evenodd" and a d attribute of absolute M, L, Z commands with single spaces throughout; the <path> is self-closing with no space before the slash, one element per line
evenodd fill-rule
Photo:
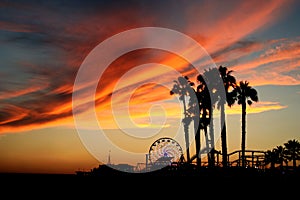
<path fill-rule="evenodd" d="M 300 143 L 298 140 L 289 140 L 284 143 L 286 149 L 286 157 L 293 162 L 293 168 L 296 168 L 296 161 L 300 160 Z"/>

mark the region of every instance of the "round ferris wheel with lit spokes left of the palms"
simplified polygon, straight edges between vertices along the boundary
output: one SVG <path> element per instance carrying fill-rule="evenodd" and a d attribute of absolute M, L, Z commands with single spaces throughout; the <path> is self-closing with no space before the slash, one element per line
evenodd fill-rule
<path fill-rule="evenodd" d="M 167 165 L 170 162 L 178 162 L 182 156 L 183 150 L 180 144 L 168 137 L 157 139 L 149 149 L 151 164 Z"/>

